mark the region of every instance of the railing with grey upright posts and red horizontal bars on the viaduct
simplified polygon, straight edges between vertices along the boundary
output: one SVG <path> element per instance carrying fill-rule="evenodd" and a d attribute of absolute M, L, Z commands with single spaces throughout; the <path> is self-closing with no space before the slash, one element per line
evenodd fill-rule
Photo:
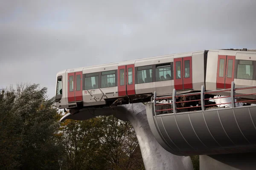
<path fill-rule="evenodd" d="M 204 85 L 201 86 L 201 92 L 197 92 L 197 93 L 189 93 L 189 94 L 178 94 L 176 95 L 176 90 L 173 89 L 172 91 L 172 95 L 171 96 L 161 96 L 161 97 L 157 97 L 156 92 L 154 92 L 154 96 L 152 97 L 151 101 L 154 101 L 154 115 L 156 116 L 156 112 L 160 112 L 160 111 L 172 111 L 174 114 L 177 113 L 178 109 L 185 109 L 185 108 L 200 108 L 201 107 L 201 111 L 205 111 L 205 107 L 206 106 L 217 106 L 217 105 L 226 105 L 226 104 L 231 104 L 232 108 L 236 107 L 236 103 L 246 103 L 246 102 L 256 102 L 256 99 L 250 99 L 250 100 L 244 100 L 244 101 L 239 101 L 236 102 L 236 97 L 240 97 L 240 96 L 248 96 L 248 95 L 256 95 L 256 93 L 251 93 L 251 94 L 240 94 L 240 95 L 235 95 L 236 91 L 238 90 L 244 90 L 244 89 L 252 89 L 252 88 L 256 88 L 256 86 L 246 86 L 246 87 L 242 87 L 242 88 L 235 88 L 235 83 L 232 82 L 231 83 L 231 88 L 228 89 L 223 89 L 223 90 L 214 90 L 214 91 L 207 91 L 205 92 L 205 88 Z M 226 91 L 230 91 L 230 96 L 220 96 L 220 97 L 216 97 L 216 98 L 207 98 L 204 99 L 204 95 L 205 94 L 214 94 L 214 93 L 219 93 L 219 92 L 226 92 Z M 195 100 L 188 100 L 188 101 L 180 101 L 180 102 L 176 102 L 176 98 L 177 97 L 181 97 L 181 96 L 193 96 L 193 95 L 200 95 L 201 99 L 195 99 Z M 205 105 L 205 101 L 206 100 L 210 100 L 210 99 L 221 99 L 221 98 L 227 98 L 230 97 L 231 98 L 231 102 L 227 102 L 227 103 L 215 103 L 215 104 L 210 104 L 210 105 Z M 160 99 L 167 99 L 167 100 L 172 100 L 172 102 L 167 102 L 167 103 L 157 103 L 157 101 L 159 101 Z M 177 103 L 185 103 L 185 102 L 201 102 L 201 105 L 197 105 L 197 106 L 189 106 L 189 107 L 183 107 L 183 108 L 177 108 Z M 158 109 L 156 110 L 156 106 L 163 106 L 163 105 L 169 105 L 172 106 L 172 108 L 168 108 L 168 109 Z"/>

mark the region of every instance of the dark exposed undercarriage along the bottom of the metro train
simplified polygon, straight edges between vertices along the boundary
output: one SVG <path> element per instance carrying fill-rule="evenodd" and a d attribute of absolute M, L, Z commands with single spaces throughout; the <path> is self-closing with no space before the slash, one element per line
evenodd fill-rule
<path fill-rule="evenodd" d="M 191 93 L 197 93 L 197 91 L 192 91 Z M 200 94 L 196 94 L 196 95 L 191 95 L 191 93 L 188 94 L 184 94 L 181 96 L 177 96 L 176 97 L 176 112 L 180 113 L 180 112 L 187 112 L 187 111 L 200 111 L 201 110 L 201 95 Z M 105 105 L 93 105 L 93 106 L 87 106 L 84 107 L 83 103 L 77 103 L 77 107 L 76 108 L 70 108 L 70 113 L 71 114 L 75 114 L 78 113 L 79 110 L 83 109 L 83 108 L 103 108 L 103 107 L 114 107 L 114 106 L 118 106 L 118 105 L 126 105 L 126 104 L 131 104 L 131 103 L 139 103 L 139 102 L 151 102 L 151 98 L 152 98 L 153 94 L 136 94 L 133 96 L 123 96 L 120 98 L 114 98 L 114 99 L 108 99 L 106 100 L 106 104 Z M 216 104 L 216 102 L 214 102 L 214 97 L 216 95 L 212 95 L 212 94 L 205 94 L 204 95 L 204 105 L 205 105 L 205 110 L 208 109 L 214 109 L 216 107 L 219 107 L 218 105 L 220 104 Z M 170 99 L 169 97 L 163 96 L 161 97 L 161 99 L 158 99 L 157 101 L 158 103 L 173 103 L 172 99 Z M 244 103 L 244 105 L 251 105 L 250 103 Z M 159 110 L 165 110 L 165 111 L 160 111 L 159 114 L 163 114 L 163 113 L 173 113 L 173 105 L 169 104 L 169 105 L 159 105 L 158 106 Z M 223 106 L 223 108 L 225 108 L 225 106 Z"/>

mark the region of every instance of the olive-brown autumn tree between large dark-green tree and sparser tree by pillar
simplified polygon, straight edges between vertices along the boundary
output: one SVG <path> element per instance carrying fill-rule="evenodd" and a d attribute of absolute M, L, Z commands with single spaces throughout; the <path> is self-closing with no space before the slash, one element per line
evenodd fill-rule
<path fill-rule="evenodd" d="M 65 147 L 63 169 L 104 169 L 105 157 L 99 142 L 99 118 L 85 121 L 66 120 L 60 128 L 59 142 Z"/>

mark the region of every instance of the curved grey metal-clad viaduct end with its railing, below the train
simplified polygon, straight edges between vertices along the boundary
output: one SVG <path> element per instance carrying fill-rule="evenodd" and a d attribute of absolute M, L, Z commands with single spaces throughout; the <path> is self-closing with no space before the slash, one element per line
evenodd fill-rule
<path fill-rule="evenodd" d="M 236 97 L 253 95 L 235 95 L 235 92 L 249 88 L 256 86 L 235 88 L 232 82 L 230 89 L 207 92 L 202 86 L 200 93 L 185 94 L 185 96 L 200 94 L 201 106 L 194 108 L 201 107 L 201 110 L 180 113 L 177 113 L 180 108 L 176 108 L 178 102 L 175 98 L 184 94 L 176 95 L 175 89 L 172 96 L 157 97 L 154 93 L 152 102 L 146 107 L 151 131 L 163 148 L 179 156 L 256 152 L 256 105 L 242 107 L 235 105 Z M 205 107 L 209 105 L 204 103 L 207 100 L 204 99 L 204 94 L 220 91 L 230 91 L 230 96 L 217 98 L 231 97 L 231 102 L 220 104 L 231 104 L 232 107 L 206 110 Z M 167 99 L 167 102 L 157 102 L 160 99 Z M 170 99 L 172 102 L 169 101 Z M 256 99 L 243 102 L 249 101 Z M 157 109 L 157 106 L 161 105 L 171 105 L 172 108 Z M 169 111 L 169 113 L 157 114 L 161 111 Z"/>

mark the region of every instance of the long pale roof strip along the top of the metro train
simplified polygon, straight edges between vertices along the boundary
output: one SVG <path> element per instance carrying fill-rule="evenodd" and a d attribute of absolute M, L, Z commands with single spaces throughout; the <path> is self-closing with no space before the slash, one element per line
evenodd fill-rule
<path fill-rule="evenodd" d="M 251 53 L 251 54 L 255 54 L 256 53 L 256 49 L 251 49 L 248 50 L 247 48 L 243 48 L 243 49 L 221 49 L 221 50 L 204 50 L 204 51 L 216 51 L 216 52 L 230 52 L 230 53 Z M 154 56 L 154 57 L 147 57 L 147 58 L 140 58 L 140 59 L 133 59 L 133 60 L 124 60 L 124 61 L 120 61 L 120 62 L 111 62 L 111 63 L 106 63 L 106 64 L 102 64 L 102 65 L 92 65 L 92 66 L 87 66 L 87 67 L 79 67 L 79 68 L 68 68 L 66 70 L 62 70 L 59 71 L 57 74 L 62 74 L 62 73 L 66 73 L 69 70 L 83 70 L 83 69 L 88 69 L 88 68 L 95 68 L 95 67 L 105 67 L 105 66 L 110 66 L 110 65 L 128 65 L 128 64 L 134 64 L 134 62 L 136 61 L 141 61 L 141 60 L 148 60 L 148 59 L 157 59 L 157 58 L 162 58 L 162 57 L 171 57 L 173 56 L 174 58 L 176 57 L 180 57 L 182 55 L 186 55 L 186 54 L 195 54 L 195 53 L 202 53 L 204 51 L 191 51 L 191 52 L 184 52 L 184 53 L 174 53 L 174 54 L 167 54 L 167 55 L 161 55 L 161 56 Z"/>

